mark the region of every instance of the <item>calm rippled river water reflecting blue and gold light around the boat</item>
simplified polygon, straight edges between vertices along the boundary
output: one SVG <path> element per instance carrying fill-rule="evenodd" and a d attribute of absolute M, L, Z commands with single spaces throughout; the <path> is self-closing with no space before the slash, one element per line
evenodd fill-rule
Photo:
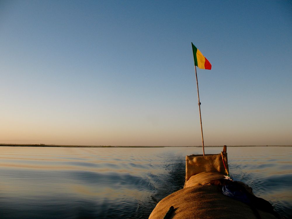
<path fill-rule="evenodd" d="M 222 148 L 206 148 L 208 154 Z M 292 218 L 292 147 L 227 147 L 230 175 Z M 148 218 L 197 147 L 0 147 L 0 218 Z"/>

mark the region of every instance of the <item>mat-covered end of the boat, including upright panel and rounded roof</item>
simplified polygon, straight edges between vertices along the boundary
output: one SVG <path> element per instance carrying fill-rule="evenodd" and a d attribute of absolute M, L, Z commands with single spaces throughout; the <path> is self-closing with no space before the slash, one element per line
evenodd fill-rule
<path fill-rule="evenodd" d="M 242 182 L 226 179 L 226 146 L 222 154 L 186 156 L 184 188 L 159 201 L 149 219 L 278 218 L 272 205 L 254 196 L 250 187 Z M 241 193 L 234 193 L 239 199 L 223 194 L 223 190 L 232 194 L 232 188 L 241 190 Z"/>

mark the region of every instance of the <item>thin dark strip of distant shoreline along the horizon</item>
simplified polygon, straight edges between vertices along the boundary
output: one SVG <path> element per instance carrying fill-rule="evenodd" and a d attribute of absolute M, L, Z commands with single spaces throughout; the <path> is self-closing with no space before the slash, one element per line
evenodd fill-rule
<path fill-rule="evenodd" d="M 202 146 L 112 146 L 112 145 L 46 145 L 46 144 L 0 144 L 6 147 L 202 147 Z M 204 146 L 223 147 L 223 145 Z M 292 145 L 227 145 L 227 147 L 292 147 Z"/>

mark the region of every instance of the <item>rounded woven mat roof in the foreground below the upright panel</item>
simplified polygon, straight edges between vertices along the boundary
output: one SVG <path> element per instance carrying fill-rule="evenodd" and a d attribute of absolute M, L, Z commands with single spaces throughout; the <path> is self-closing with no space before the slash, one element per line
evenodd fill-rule
<path fill-rule="evenodd" d="M 149 219 L 163 219 L 169 207 L 174 207 L 170 218 L 254 218 L 255 214 L 246 204 L 223 195 L 214 185 L 197 185 L 178 190 L 162 199 Z M 261 218 L 275 219 L 274 215 L 259 211 Z"/>

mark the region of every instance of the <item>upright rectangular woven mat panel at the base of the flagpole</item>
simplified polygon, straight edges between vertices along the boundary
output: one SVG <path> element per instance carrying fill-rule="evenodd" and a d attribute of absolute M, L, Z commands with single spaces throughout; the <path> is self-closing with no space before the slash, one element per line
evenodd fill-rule
<path fill-rule="evenodd" d="M 185 182 L 201 172 L 218 172 L 227 174 L 223 165 L 221 154 L 190 155 L 185 157 Z M 224 161 L 228 170 L 227 153 L 224 153 Z"/>

